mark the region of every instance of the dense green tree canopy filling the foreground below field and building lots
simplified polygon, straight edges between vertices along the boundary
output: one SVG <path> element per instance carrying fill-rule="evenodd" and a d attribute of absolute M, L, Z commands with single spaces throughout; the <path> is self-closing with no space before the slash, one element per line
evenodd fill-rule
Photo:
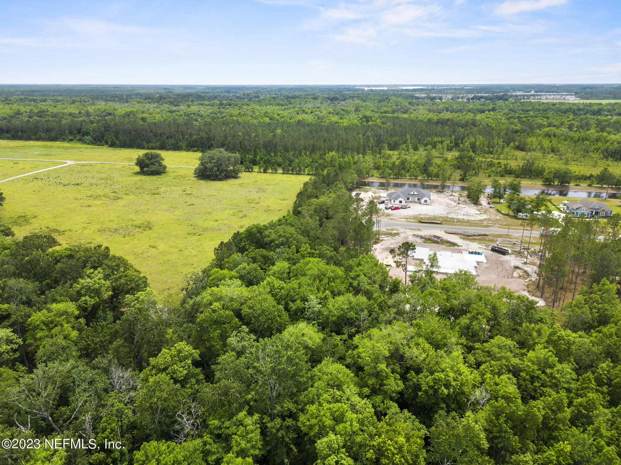
<path fill-rule="evenodd" d="M 2 435 L 124 445 L 4 458 L 619 464 L 615 286 L 580 291 L 562 325 L 469 273 L 406 286 L 369 255 L 355 177 L 320 173 L 290 214 L 235 232 L 179 304 L 105 247 L 0 238 Z"/>

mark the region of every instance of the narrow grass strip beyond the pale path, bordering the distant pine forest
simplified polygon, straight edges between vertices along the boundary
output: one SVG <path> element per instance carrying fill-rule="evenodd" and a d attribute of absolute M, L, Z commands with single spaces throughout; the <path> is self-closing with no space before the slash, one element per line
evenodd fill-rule
<path fill-rule="evenodd" d="M 158 150 L 167 165 L 196 166 L 198 152 L 178 152 Z M 134 163 L 136 157 L 145 150 L 111 149 L 74 142 L 39 142 L 0 140 L 0 157 L 42 158 L 74 161 L 111 161 Z"/>

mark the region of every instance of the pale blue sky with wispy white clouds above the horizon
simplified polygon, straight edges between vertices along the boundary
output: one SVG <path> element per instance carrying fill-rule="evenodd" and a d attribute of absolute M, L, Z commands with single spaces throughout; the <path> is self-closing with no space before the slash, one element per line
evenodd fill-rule
<path fill-rule="evenodd" d="M 620 0 L 4 0 L 0 83 L 621 82 Z"/>

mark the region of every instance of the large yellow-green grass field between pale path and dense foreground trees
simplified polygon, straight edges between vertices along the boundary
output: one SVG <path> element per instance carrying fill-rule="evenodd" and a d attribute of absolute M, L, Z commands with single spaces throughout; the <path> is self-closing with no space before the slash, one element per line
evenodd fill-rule
<path fill-rule="evenodd" d="M 61 143 L 32 145 L 50 157 L 67 146 L 61 157 L 66 159 L 120 159 L 141 152 L 91 146 L 72 149 L 74 144 Z M 43 148 L 47 145 L 51 148 Z M 32 162 L 23 163 L 21 172 L 32 170 Z M 286 213 L 307 179 L 242 173 L 239 179 L 217 182 L 196 179 L 188 168 L 169 168 L 168 173 L 152 177 L 138 174 L 134 166 L 75 164 L 0 184 L 7 199 L 0 222 L 19 236 L 48 232 L 65 245 L 109 246 L 114 254 L 134 263 L 152 288 L 170 295 L 178 293 L 184 275 L 209 263 L 220 241 L 249 224 L 266 223 Z"/>

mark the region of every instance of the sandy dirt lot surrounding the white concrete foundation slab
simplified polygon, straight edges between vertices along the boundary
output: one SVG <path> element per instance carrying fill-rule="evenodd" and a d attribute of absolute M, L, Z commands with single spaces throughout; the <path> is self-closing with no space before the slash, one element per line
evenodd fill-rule
<path fill-rule="evenodd" d="M 425 206 L 421 206 L 421 208 L 425 208 Z M 446 234 L 443 231 L 433 231 L 433 234 L 445 237 L 450 241 L 457 242 L 460 244 L 460 247 L 450 247 L 443 244 L 425 244 L 423 239 L 414 236 L 414 234 L 429 234 L 429 231 L 410 228 L 385 229 L 383 239 L 374 247 L 375 256 L 381 262 L 384 262 L 384 260 L 390 257 L 389 250 L 396 248 L 404 241 L 414 242 L 417 246 L 429 247 L 432 252 L 438 250 L 461 252 L 463 249 L 483 249 L 487 263 L 478 264 L 478 275 L 476 275 L 476 280 L 481 285 L 498 287 L 505 286 L 510 290 L 516 291 L 520 294 L 525 294 L 528 297 L 535 299 L 540 304 L 543 304 L 541 299 L 529 294 L 526 288 L 527 282 L 535 278 L 537 268 L 532 265 L 524 265 L 524 259 L 521 257 L 517 257 L 515 254 L 495 254 L 494 252 L 491 252 L 489 248 L 483 248 L 481 244 L 478 244 L 477 242 L 471 242 L 453 234 Z M 389 267 L 389 273 L 391 276 L 400 278 L 404 277 L 404 273 L 399 268 Z M 437 275 L 438 278 L 445 277 L 442 273 L 437 273 Z"/>

